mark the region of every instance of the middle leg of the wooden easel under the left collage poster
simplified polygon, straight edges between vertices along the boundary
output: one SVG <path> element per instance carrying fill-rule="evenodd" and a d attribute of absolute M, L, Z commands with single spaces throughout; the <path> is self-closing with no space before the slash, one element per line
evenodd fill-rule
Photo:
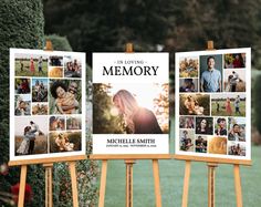
<path fill-rule="evenodd" d="M 53 206 L 53 164 L 43 164 L 45 167 L 45 207 Z"/>

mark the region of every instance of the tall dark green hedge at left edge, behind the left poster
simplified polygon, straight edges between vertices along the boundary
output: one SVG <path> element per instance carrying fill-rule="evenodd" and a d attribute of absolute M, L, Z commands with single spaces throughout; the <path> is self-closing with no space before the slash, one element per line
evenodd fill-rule
<path fill-rule="evenodd" d="M 0 2 L 0 165 L 9 161 L 9 48 L 43 48 L 43 6 L 41 0 L 2 0 Z M 0 176 L 1 190 L 19 182 L 19 167 L 11 167 L 9 174 Z M 30 166 L 28 183 L 32 186 L 34 199 L 31 205 L 43 203 L 43 168 Z M 3 205 L 0 201 L 0 205 Z M 4 204 L 6 205 L 6 204 Z"/>

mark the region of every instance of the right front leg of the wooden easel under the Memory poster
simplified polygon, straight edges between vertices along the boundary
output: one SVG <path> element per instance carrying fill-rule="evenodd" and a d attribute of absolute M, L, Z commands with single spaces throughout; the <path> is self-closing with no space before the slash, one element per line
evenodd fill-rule
<path fill-rule="evenodd" d="M 153 159 L 153 174 L 154 174 L 156 207 L 161 207 L 158 159 Z"/>

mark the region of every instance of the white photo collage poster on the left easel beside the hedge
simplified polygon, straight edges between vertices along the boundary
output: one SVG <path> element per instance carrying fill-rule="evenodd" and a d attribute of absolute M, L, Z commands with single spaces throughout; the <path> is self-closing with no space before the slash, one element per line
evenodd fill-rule
<path fill-rule="evenodd" d="M 10 49 L 10 161 L 85 154 L 85 53 Z"/>

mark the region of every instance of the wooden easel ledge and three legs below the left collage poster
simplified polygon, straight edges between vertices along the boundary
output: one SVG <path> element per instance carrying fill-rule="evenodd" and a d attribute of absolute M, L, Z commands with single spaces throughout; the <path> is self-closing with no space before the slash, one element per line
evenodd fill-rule
<path fill-rule="evenodd" d="M 71 174 L 72 194 L 73 194 L 73 207 L 79 207 L 77 199 L 77 179 L 76 179 L 76 161 L 86 159 L 85 155 L 67 156 L 67 157 L 54 157 L 54 158 L 39 158 L 39 159 L 23 159 L 23 161 L 11 161 L 8 163 L 9 166 L 21 166 L 20 174 L 20 186 L 18 207 L 24 205 L 25 183 L 28 165 L 42 164 L 45 167 L 45 207 L 52 207 L 52 167 L 53 163 L 67 162 L 69 170 Z"/>

